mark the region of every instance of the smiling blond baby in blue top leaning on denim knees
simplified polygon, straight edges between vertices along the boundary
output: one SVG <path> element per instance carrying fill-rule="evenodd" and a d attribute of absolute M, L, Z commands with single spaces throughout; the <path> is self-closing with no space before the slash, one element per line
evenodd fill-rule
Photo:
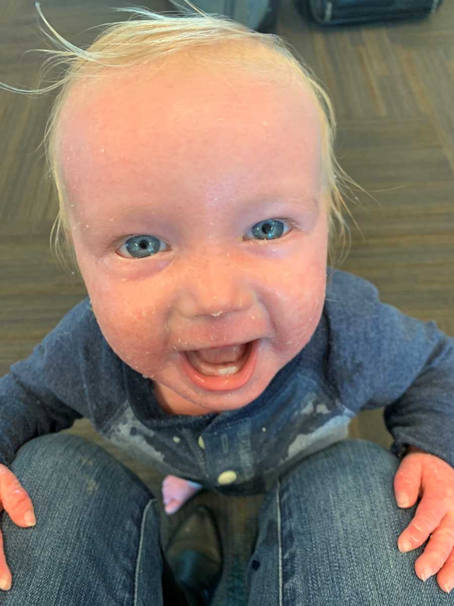
<path fill-rule="evenodd" d="M 146 15 L 143 32 L 162 25 Z M 412 445 L 454 464 L 452 339 L 327 265 L 342 201 L 326 93 L 266 36 L 230 27 L 243 38 L 146 62 L 144 35 L 128 68 L 107 66 L 119 42 L 105 35 L 84 52 L 107 49 L 103 65 L 82 56 L 90 77 L 58 99 L 51 162 L 88 298 L 0 379 L 15 419 L 1 425 L 2 497 L 33 415 L 41 434 L 90 418 L 155 465 L 168 513 L 201 487 L 269 490 L 361 408 L 386 407 L 399 457 Z"/>

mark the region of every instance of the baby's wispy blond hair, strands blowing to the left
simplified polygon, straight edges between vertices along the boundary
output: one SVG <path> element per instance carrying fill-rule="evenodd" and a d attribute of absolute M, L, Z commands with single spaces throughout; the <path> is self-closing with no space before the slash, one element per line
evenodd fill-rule
<path fill-rule="evenodd" d="M 0 82 L 0 88 L 12 90 L 14 92 L 25 94 L 43 94 L 62 85 L 62 90 L 54 99 L 51 113 L 47 121 L 44 139 L 38 148 L 45 142 L 45 153 L 47 160 L 47 177 L 50 175 L 56 185 L 59 202 L 59 212 L 54 221 L 50 234 L 50 247 L 52 252 L 52 238 L 54 237 L 55 256 L 61 267 L 65 269 L 67 258 L 65 253 L 68 253 L 70 264 L 67 268 L 76 270 L 80 276 L 79 267 L 77 265 L 76 253 L 74 251 L 71 239 L 68 234 L 71 233 L 71 227 L 68 220 L 66 204 L 65 204 L 65 189 L 62 184 L 61 175 L 58 170 L 58 121 L 61 115 L 62 107 L 64 107 L 67 95 L 71 85 L 79 78 L 97 78 L 100 77 L 99 70 L 102 68 L 127 68 L 140 66 L 149 63 L 154 59 L 162 58 L 171 53 L 190 51 L 191 48 L 200 47 L 200 45 L 215 45 L 222 42 L 237 41 L 257 43 L 258 53 L 262 53 L 261 59 L 265 58 L 265 51 L 271 51 L 271 59 L 268 62 L 268 67 L 281 68 L 282 59 L 288 62 L 290 68 L 295 68 L 300 76 L 301 81 L 307 85 L 307 88 L 313 96 L 317 107 L 320 110 L 321 116 L 321 132 L 322 132 L 322 170 L 324 186 L 327 192 L 327 216 L 329 227 L 329 259 L 333 262 L 333 253 L 337 247 L 337 235 L 335 233 L 335 221 L 340 225 L 340 239 L 345 244 L 346 233 L 350 236 L 349 227 L 343 217 L 343 208 L 351 213 L 344 202 L 343 196 L 340 193 L 340 188 L 343 184 L 350 182 L 358 185 L 353 181 L 338 165 L 334 155 L 334 138 L 336 132 L 336 121 L 334 110 L 332 108 L 329 96 L 324 91 L 321 84 L 318 84 L 317 77 L 312 70 L 304 65 L 303 59 L 297 59 L 295 56 L 298 53 L 294 50 L 295 56 L 292 55 L 289 45 L 283 38 L 274 34 L 258 33 L 255 30 L 232 21 L 232 19 L 219 15 L 217 13 L 208 14 L 194 6 L 189 0 L 184 0 L 196 13 L 191 13 L 187 7 L 180 7 L 174 0 L 172 4 L 182 8 L 186 12 L 185 16 L 168 16 L 164 13 L 154 13 L 147 8 L 132 7 L 132 8 L 112 8 L 111 10 L 130 12 L 139 17 L 134 21 L 114 22 L 102 32 L 93 44 L 88 48 L 82 49 L 74 46 L 56 32 L 42 15 L 40 3 L 35 2 L 36 9 L 42 20 L 45 22 L 49 30 L 54 34 L 52 38 L 41 27 L 41 31 L 62 50 L 45 50 L 33 49 L 38 52 L 51 53 L 42 68 L 56 59 L 53 65 L 68 63 L 64 76 L 62 76 L 54 84 L 46 88 L 36 88 L 31 90 L 23 90 L 10 87 Z M 100 26 L 97 26 L 100 27 Z M 222 47 L 224 50 L 225 45 Z M 254 44 L 252 44 L 254 49 Z M 33 52 L 29 50 L 26 52 Z M 228 53 L 229 55 L 231 53 Z M 222 55 L 222 53 L 220 53 Z M 219 57 L 220 55 L 217 55 Z M 257 62 L 257 56 L 254 53 L 245 53 L 248 59 L 249 67 L 254 67 Z M 269 53 L 268 53 L 268 56 Z M 229 61 L 229 64 L 231 62 Z M 236 63 L 235 63 L 236 65 Z M 243 67 L 248 67 L 243 65 Z M 92 75 L 93 73 L 93 75 Z M 269 71 L 268 73 L 271 73 Z M 42 78 L 42 75 L 41 75 Z M 41 79 L 40 79 L 41 81 Z M 346 186 L 347 187 L 347 186 Z M 358 187 L 360 187 L 358 185 Z M 360 187 L 363 190 L 362 187 Z M 365 191 L 365 190 L 363 190 Z M 367 193 L 367 192 L 366 192 Z M 356 198 L 356 196 L 354 196 Z M 358 199 L 358 198 L 356 198 Z M 356 204 L 356 202 L 354 202 Z M 355 221 L 355 219 L 353 219 Z M 355 221 L 356 224 L 356 221 Z M 61 238 L 64 236 L 64 251 L 61 248 Z M 350 242 L 349 242 L 350 247 Z M 348 254 L 345 255 L 345 258 Z M 344 258 L 341 262 L 344 261 Z M 334 260 L 335 264 L 335 260 Z M 74 271 L 71 271 L 74 274 Z M 82 278 L 82 276 L 81 276 Z"/>

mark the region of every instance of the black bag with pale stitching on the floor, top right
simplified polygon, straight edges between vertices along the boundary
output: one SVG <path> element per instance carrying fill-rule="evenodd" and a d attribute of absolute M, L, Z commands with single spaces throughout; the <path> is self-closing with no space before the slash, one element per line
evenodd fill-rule
<path fill-rule="evenodd" d="M 308 0 L 312 18 L 322 25 L 400 21 L 427 17 L 443 0 Z M 303 2 L 298 1 L 299 8 Z M 306 4 L 306 2 L 304 2 Z"/>

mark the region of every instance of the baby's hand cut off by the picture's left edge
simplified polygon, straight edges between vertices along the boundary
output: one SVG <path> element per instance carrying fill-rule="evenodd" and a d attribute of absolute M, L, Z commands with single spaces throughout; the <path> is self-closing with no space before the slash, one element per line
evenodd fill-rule
<path fill-rule="evenodd" d="M 36 524 L 33 504 L 27 491 L 19 484 L 15 474 L 8 467 L 0 464 L 0 511 L 3 509 L 18 526 L 28 527 Z M 10 589 L 11 581 L 12 576 L 6 563 L 0 530 L 0 588 Z"/>

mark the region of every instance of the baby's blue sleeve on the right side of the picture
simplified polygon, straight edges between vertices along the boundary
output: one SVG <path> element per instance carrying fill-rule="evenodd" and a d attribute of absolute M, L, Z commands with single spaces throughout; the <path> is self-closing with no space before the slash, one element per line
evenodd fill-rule
<path fill-rule="evenodd" d="M 383 304 L 362 278 L 337 270 L 332 284 L 329 373 L 343 404 L 384 407 L 399 458 L 412 444 L 454 467 L 454 339 Z"/>

